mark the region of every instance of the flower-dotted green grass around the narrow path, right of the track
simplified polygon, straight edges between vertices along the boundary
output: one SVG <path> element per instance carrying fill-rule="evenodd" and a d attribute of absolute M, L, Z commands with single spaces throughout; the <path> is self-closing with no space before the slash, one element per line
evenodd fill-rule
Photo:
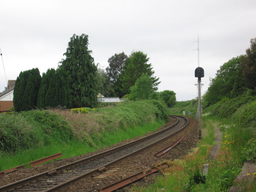
<path fill-rule="evenodd" d="M 223 142 L 220 156 L 216 160 L 209 160 L 207 151 L 215 144 L 213 142 L 215 139 L 213 122 L 218 123 L 219 126 L 225 126 L 221 126 Z M 183 160 L 173 161 L 172 166 L 163 173 L 164 177 L 158 177 L 155 183 L 149 187 L 134 187 L 132 192 L 225 192 L 241 171 L 245 161 L 243 153 L 245 144 L 248 138 L 252 137 L 250 133 L 252 130 L 249 131 L 247 128 L 234 124 L 231 119 L 203 117 L 203 139 L 198 143 L 199 152 L 186 156 Z M 209 173 L 205 180 L 202 180 L 203 183 L 197 184 L 197 180 L 194 179 L 203 177 L 201 175 L 203 164 L 210 165 Z M 254 179 L 256 181 L 256 177 Z M 250 192 L 256 192 L 255 183 L 248 185 L 247 182 L 244 182 L 242 185 L 250 188 Z"/>

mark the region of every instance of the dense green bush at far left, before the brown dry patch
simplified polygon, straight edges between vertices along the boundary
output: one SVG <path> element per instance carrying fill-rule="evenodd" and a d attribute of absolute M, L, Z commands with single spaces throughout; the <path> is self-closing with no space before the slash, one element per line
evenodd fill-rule
<path fill-rule="evenodd" d="M 23 111 L 0 115 L 0 150 L 14 152 L 47 145 L 69 142 L 74 133 L 60 115 L 49 111 Z"/>

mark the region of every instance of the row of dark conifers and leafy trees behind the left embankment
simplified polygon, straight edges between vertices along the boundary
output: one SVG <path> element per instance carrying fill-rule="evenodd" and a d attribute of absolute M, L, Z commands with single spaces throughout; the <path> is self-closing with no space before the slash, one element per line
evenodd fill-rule
<path fill-rule="evenodd" d="M 98 94 L 130 100 L 158 99 L 169 107 L 175 103 L 175 92 L 156 92 L 160 81 L 154 76 L 147 54 L 116 53 L 108 59 L 109 66 L 104 70 L 94 63 L 88 44 L 88 35 L 73 34 L 63 54 L 66 58 L 56 70 L 48 69 L 42 77 L 38 68 L 21 72 L 13 93 L 15 111 L 96 107 Z"/>

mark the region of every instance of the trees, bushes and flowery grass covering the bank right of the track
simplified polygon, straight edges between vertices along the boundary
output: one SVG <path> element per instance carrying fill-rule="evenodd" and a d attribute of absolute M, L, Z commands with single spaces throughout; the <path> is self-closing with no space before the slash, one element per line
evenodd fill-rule
<path fill-rule="evenodd" d="M 198 192 L 227 191 L 234 183 L 246 160 L 256 163 L 256 38 L 250 41 L 246 55 L 224 63 L 203 96 L 203 139 L 196 152 L 171 165 L 155 184 L 133 188 L 140 192 Z M 169 111 L 182 114 L 193 111 L 194 101 L 176 102 Z M 194 111 L 196 112 L 196 111 Z M 222 132 L 221 152 L 217 159 L 207 158 L 213 143 L 213 125 Z M 203 174 L 203 164 L 209 164 L 209 173 Z M 247 192 L 256 192 L 256 173 L 247 174 L 239 186 Z M 253 182 L 248 182 L 252 177 Z"/>

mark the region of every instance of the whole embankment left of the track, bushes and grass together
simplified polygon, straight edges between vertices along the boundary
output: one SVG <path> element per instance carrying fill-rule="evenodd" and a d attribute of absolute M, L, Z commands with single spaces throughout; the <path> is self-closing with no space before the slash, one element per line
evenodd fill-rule
<path fill-rule="evenodd" d="M 96 151 L 163 125 L 165 105 L 123 102 L 90 113 L 32 110 L 0 114 L 0 171 L 62 152 L 67 158 Z"/>

